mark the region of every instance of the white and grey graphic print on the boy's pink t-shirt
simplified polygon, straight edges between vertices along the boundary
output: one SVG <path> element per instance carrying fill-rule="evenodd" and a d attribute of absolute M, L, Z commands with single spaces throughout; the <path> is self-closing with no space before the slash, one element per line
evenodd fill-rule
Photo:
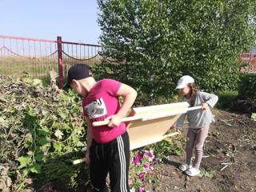
<path fill-rule="evenodd" d="M 84 107 L 86 114 L 89 118 L 99 118 L 106 115 L 106 105 L 102 98 L 98 98 L 93 102 L 90 102 Z"/>

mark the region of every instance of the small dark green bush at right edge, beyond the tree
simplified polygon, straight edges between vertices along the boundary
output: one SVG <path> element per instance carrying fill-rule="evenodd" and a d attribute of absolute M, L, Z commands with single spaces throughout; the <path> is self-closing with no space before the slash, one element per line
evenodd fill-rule
<path fill-rule="evenodd" d="M 246 98 L 256 98 L 256 74 L 240 75 L 238 94 Z"/>

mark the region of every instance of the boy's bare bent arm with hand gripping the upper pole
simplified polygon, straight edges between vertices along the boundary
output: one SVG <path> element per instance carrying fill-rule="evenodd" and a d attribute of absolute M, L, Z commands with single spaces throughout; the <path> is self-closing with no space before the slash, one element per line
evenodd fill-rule
<path fill-rule="evenodd" d="M 137 97 L 137 91 L 134 88 L 127 86 L 126 84 L 121 84 L 118 89 L 118 96 L 122 96 L 123 103 L 117 114 L 111 115 L 106 119 L 111 119 L 108 126 L 114 127 L 119 126 L 122 118 L 124 118 L 127 112 L 130 110 L 130 107 L 134 104 L 135 98 Z"/>

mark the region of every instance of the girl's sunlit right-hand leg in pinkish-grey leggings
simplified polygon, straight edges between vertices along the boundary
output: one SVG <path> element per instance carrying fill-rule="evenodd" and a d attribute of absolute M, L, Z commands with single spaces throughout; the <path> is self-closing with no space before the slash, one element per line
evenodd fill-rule
<path fill-rule="evenodd" d="M 195 150 L 194 168 L 197 168 L 197 169 L 199 169 L 202 161 L 202 147 L 206 140 L 208 130 L 209 130 L 209 126 L 200 129 L 194 141 L 194 150 Z"/>

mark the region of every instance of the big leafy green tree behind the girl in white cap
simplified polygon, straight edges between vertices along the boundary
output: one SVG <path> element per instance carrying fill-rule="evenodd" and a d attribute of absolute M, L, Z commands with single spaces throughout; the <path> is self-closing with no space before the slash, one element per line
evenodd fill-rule
<path fill-rule="evenodd" d="M 185 74 L 202 90 L 235 89 L 238 56 L 255 41 L 255 5 L 255 0 L 98 0 L 102 56 L 120 64 L 109 65 L 112 77 L 150 98 L 170 97 Z"/>

